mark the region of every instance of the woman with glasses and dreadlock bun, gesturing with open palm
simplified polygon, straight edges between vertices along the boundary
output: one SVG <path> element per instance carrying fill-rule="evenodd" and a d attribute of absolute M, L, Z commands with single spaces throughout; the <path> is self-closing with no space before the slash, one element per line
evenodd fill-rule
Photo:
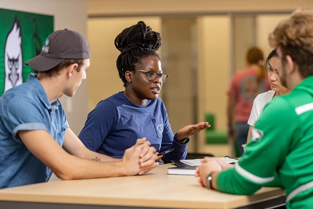
<path fill-rule="evenodd" d="M 121 51 L 116 66 L 125 91 L 102 100 L 92 110 L 79 138 L 90 150 L 122 158 L 125 149 L 146 137 L 157 152 L 175 148 L 161 155 L 164 163 L 185 159 L 189 136 L 210 127 L 208 123 L 188 125 L 175 135 L 168 122 L 166 108 L 158 95 L 167 74 L 162 72 L 161 36 L 142 21 L 124 29 L 115 38 Z M 156 153 L 157 154 L 157 153 Z"/>

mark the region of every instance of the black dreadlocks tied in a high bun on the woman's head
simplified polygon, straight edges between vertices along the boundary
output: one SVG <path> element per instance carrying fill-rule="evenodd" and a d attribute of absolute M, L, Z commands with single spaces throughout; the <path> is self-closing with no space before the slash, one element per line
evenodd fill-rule
<path fill-rule="evenodd" d="M 135 69 L 137 63 L 156 53 L 161 46 L 160 33 L 152 31 L 143 21 L 124 29 L 115 38 L 115 47 L 121 54 L 117 57 L 116 67 L 121 80 L 126 86 L 125 72 Z"/>

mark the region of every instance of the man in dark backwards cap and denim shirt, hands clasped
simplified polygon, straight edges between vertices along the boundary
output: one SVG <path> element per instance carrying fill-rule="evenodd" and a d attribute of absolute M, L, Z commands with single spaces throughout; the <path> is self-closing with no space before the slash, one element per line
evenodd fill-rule
<path fill-rule="evenodd" d="M 45 182 L 52 172 L 84 179 L 141 175 L 158 165 L 145 138 L 114 159 L 87 149 L 69 128 L 59 97 L 73 96 L 86 79 L 90 47 L 81 34 L 55 31 L 25 64 L 38 75 L 0 97 L 0 188 Z"/>

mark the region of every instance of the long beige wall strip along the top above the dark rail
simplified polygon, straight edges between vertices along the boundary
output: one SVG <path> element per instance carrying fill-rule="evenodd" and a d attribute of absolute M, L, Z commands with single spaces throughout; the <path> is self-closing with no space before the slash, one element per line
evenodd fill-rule
<path fill-rule="evenodd" d="M 229 11 L 290 11 L 295 8 L 313 7 L 312 0 L 119 0 L 103 1 L 88 0 L 88 14 L 90 15 L 161 15 L 183 13 L 208 13 Z"/>

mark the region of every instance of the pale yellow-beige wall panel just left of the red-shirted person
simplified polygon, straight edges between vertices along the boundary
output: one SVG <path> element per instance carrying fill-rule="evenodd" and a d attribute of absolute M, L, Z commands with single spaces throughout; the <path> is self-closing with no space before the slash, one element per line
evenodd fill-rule
<path fill-rule="evenodd" d="M 217 130 L 226 128 L 227 89 L 230 80 L 230 18 L 228 16 L 202 16 L 198 26 L 198 118 L 204 112 L 215 113 Z M 210 121 L 208 121 L 210 122 Z M 216 147 L 204 142 L 199 133 L 198 150 L 216 153 Z M 223 149 L 229 153 L 229 148 Z M 219 152 L 218 156 L 222 153 Z"/>

